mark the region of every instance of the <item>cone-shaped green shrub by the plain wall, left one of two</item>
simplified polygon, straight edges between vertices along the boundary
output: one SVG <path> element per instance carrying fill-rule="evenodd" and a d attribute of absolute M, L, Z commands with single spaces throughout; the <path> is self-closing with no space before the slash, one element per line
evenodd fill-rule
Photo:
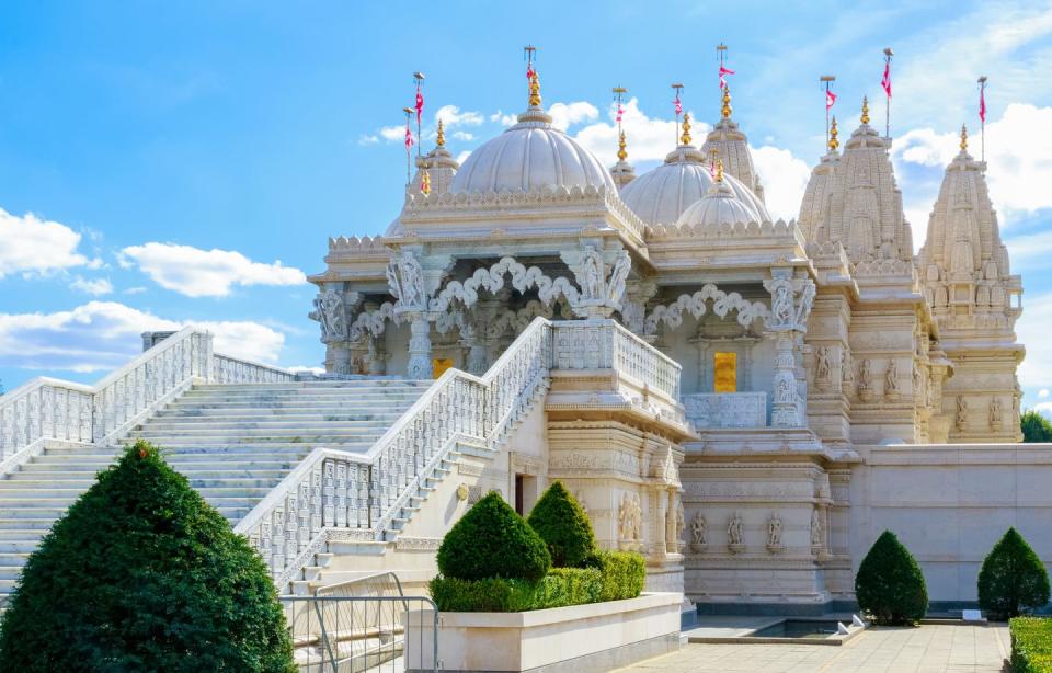
<path fill-rule="evenodd" d="M 928 609 L 924 573 L 895 534 L 884 531 L 855 575 L 859 608 L 880 625 L 916 624 Z"/>

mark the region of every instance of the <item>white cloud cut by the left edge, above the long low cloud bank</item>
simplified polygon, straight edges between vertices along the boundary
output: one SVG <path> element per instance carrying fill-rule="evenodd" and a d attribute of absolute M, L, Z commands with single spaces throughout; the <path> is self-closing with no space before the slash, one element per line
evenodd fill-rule
<path fill-rule="evenodd" d="M 10 273 L 48 273 L 88 264 L 81 236 L 66 225 L 0 208 L 0 278 Z"/>

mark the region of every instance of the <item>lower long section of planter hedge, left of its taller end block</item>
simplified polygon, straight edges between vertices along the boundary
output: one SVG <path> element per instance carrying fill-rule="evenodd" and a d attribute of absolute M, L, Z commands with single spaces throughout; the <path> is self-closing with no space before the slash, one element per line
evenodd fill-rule
<path fill-rule="evenodd" d="M 442 612 L 517 613 L 597 603 L 602 594 L 603 575 L 597 568 L 552 568 L 540 580 L 439 575 L 431 581 L 431 597 Z"/>

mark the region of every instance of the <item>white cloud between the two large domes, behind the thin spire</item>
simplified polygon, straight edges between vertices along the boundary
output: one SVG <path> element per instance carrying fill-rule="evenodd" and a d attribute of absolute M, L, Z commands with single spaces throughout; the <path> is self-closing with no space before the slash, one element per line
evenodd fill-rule
<path fill-rule="evenodd" d="M 690 113 L 691 118 L 695 117 Z M 617 106 L 610 105 L 607 111 L 609 123 L 598 122 L 590 124 L 579 130 L 574 138 L 591 150 L 606 166 L 617 162 Z M 625 135 L 628 139 L 628 160 L 638 167 L 645 161 L 658 161 L 675 149 L 676 123 L 674 119 L 658 119 L 647 116 L 639 109 L 639 100 L 632 98 L 625 103 L 625 115 L 621 121 Z M 691 133 L 700 146 L 709 127 L 704 123 L 695 123 Z"/>

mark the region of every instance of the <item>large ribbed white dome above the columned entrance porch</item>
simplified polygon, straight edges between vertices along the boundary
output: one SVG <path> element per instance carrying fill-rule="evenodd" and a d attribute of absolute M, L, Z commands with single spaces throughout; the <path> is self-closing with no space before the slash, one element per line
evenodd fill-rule
<path fill-rule="evenodd" d="M 449 191 L 530 192 L 588 186 L 617 193 L 610 172 L 595 155 L 552 128 L 551 117 L 531 105 L 518 115 L 518 124 L 468 156 Z"/>

